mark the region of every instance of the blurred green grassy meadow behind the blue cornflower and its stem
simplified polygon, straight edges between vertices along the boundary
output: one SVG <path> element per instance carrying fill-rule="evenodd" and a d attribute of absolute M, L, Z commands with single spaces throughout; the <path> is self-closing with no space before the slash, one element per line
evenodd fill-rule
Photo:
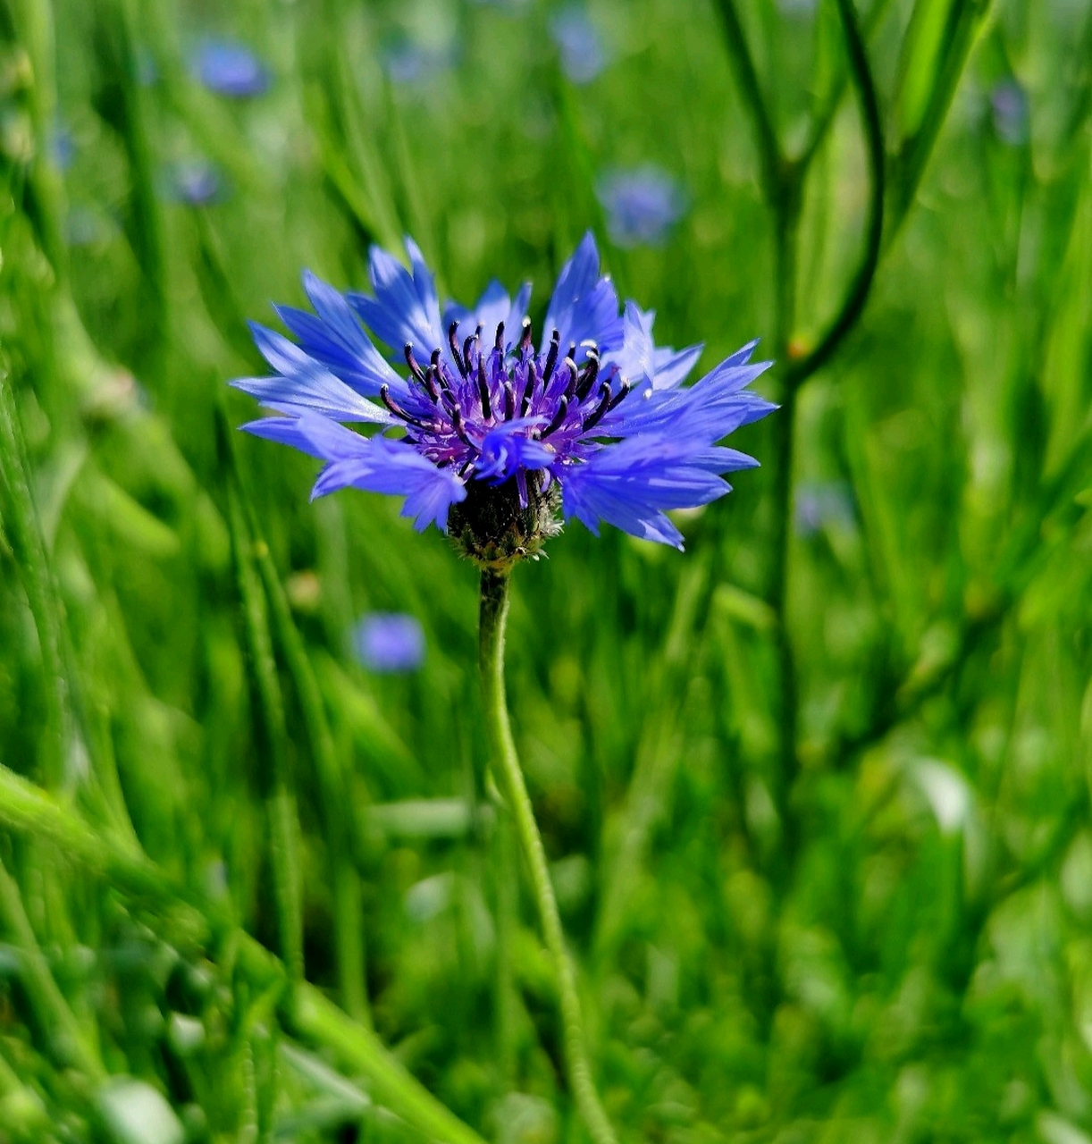
<path fill-rule="evenodd" d="M 685 554 L 574 524 L 513 577 L 621 1139 L 1092 1141 L 1092 8 L 588 0 L 587 84 L 556 13 L 0 2 L 5 1141 L 587 1138 L 476 572 L 309 503 L 225 382 L 305 267 L 360 288 L 412 233 L 539 328 L 588 228 L 706 370 L 760 336 L 782 405 Z M 207 35 L 268 90 L 197 82 Z M 685 212 L 621 248 L 596 189 L 644 164 Z M 376 610 L 419 672 L 356 661 Z"/>

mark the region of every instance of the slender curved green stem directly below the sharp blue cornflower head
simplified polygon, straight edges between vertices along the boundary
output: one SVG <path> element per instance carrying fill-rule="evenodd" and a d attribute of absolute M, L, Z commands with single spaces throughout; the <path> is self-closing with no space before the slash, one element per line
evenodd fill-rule
<path fill-rule="evenodd" d="M 568 1082 L 576 1099 L 576 1106 L 596 1144 L 616 1144 L 611 1127 L 599 1103 L 591 1079 L 591 1066 L 584 1046 L 584 1023 L 576 994 L 576 975 L 561 931 L 561 917 L 550 882 L 545 849 L 535 823 L 534 810 L 524 773 L 516 755 L 512 729 L 508 718 L 504 698 L 504 625 L 508 619 L 508 573 L 481 572 L 481 609 L 478 630 L 478 669 L 481 674 L 481 699 L 485 707 L 486 733 L 489 753 L 501 793 L 512 815 L 516 834 L 527 860 L 539 919 L 547 948 L 553 959 L 557 975 L 558 998 L 561 1007 L 561 1024 L 565 1033 L 565 1066 Z"/>

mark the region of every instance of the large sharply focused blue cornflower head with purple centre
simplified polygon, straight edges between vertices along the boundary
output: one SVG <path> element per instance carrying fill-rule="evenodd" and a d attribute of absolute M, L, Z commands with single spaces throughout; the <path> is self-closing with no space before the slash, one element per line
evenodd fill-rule
<path fill-rule="evenodd" d="M 599 273 L 591 235 L 561 268 L 539 349 L 515 299 L 492 283 L 473 309 L 443 319 L 432 276 L 406 240 L 412 273 L 373 247 L 374 294 L 341 294 L 305 272 L 314 312 L 278 307 L 297 342 L 252 324 L 268 378 L 232 382 L 278 415 L 244 428 L 325 461 L 313 496 L 354 487 L 406 498 L 419 530 L 451 533 L 463 553 L 503 569 L 534 555 L 576 517 L 683 547 L 664 515 L 723 496 L 719 476 L 758 462 L 717 445 L 773 406 L 748 386 L 768 366 L 744 345 L 695 384 L 701 345 L 652 340 L 655 315 Z M 398 372 L 364 323 L 392 350 Z M 378 427 L 365 436 L 343 422 Z"/>

